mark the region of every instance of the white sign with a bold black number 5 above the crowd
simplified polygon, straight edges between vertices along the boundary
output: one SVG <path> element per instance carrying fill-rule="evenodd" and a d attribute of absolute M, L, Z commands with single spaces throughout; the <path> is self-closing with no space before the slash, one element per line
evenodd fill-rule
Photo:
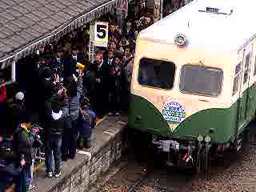
<path fill-rule="evenodd" d="M 95 22 L 94 44 L 95 46 L 107 47 L 109 26 L 107 22 Z"/>

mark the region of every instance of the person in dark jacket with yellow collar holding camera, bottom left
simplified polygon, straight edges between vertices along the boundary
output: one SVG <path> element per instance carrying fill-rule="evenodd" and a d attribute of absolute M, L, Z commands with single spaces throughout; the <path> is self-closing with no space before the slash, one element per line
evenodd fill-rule
<path fill-rule="evenodd" d="M 33 164 L 33 150 L 42 146 L 42 142 L 34 129 L 34 117 L 26 115 L 14 131 L 13 146 L 17 155 L 17 165 L 22 165 L 22 172 L 18 177 L 17 191 L 29 190 L 31 184 L 31 166 Z"/>

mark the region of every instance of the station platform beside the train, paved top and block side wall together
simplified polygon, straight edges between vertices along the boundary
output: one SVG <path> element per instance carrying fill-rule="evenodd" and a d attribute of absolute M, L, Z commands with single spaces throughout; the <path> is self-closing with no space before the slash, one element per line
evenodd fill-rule
<path fill-rule="evenodd" d="M 46 178 L 42 164 L 34 172 L 34 192 L 86 192 L 110 166 L 122 157 L 128 147 L 128 118 L 105 117 L 94 129 L 94 141 L 89 150 L 77 150 L 74 160 L 62 164 L 60 178 Z"/>

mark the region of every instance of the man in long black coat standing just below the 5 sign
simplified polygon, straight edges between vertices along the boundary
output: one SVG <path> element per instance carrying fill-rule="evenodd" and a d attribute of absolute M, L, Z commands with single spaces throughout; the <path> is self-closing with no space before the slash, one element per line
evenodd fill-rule
<path fill-rule="evenodd" d="M 94 90 L 91 90 L 90 99 L 94 110 L 99 118 L 106 113 L 108 95 L 108 81 L 110 66 L 103 60 L 102 52 L 95 56 L 95 62 L 90 66 L 91 83 L 94 84 Z"/>

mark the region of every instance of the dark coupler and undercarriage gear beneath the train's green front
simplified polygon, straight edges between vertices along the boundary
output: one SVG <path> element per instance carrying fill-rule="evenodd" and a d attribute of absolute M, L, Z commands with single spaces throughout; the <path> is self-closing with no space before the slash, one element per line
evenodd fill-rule
<path fill-rule="evenodd" d="M 209 138 L 196 138 L 194 140 L 170 139 L 159 135 L 147 134 L 147 143 L 162 154 L 167 166 L 194 169 L 198 173 L 209 173 L 210 163 L 220 158 L 227 151 L 238 153 L 246 139 L 246 131 L 237 139 L 224 144 L 211 142 Z M 142 133 L 140 133 L 142 136 Z M 143 134 L 145 136 L 145 133 Z M 142 141 L 140 136 L 140 140 Z"/>

